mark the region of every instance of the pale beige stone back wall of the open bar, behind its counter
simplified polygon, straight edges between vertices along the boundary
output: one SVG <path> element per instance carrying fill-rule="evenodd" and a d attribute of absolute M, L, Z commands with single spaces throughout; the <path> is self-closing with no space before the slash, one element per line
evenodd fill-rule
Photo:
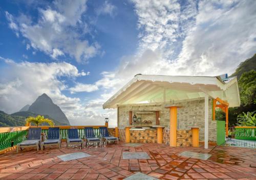
<path fill-rule="evenodd" d="M 204 141 L 204 98 L 197 100 L 184 100 L 175 102 L 178 106 L 177 113 L 177 128 L 178 129 L 190 129 L 191 127 L 199 127 L 199 140 Z M 209 141 L 216 141 L 217 138 L 217 122 L 212 121 L 212 100 L 209 100 Z M 151 111 L 158 110 L 160 117 L 160 125 L 169 128 L 169 109 L 165 108 L 165 103 L 158 103 L 154 105 L 148 104 L 134 104 L 124 105 L 119 107 L 119 127 L 125 127 L 129 125 L 129 111 Z M 156 124 L 155 114 L 152 116 L 152 124 Z M 149 117 L 147 117 L 150 119 Z M 142 117 L 142 121 L 145 120 Z M 133 124 L 134 125 L 134 124 Z M 147 126 L 143 124 L 142 126 Z"/>

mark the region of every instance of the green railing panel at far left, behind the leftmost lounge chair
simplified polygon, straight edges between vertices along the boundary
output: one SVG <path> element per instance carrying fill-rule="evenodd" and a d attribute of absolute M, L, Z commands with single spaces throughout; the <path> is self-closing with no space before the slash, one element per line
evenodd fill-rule
<path fill-rule="evenodd" d="M 22 142 L 27 133 L 27 130 L 0 133 L 0 150 L 11 147 L 12 141 L 13 145 Z"/>

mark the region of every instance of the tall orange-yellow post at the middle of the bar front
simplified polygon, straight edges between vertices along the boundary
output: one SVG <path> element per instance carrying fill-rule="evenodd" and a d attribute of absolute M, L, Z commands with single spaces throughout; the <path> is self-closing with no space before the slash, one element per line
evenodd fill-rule
<path fill-rule="evenodd" d="M 170 146 L 176 147 L 177 142 L 177 106 L 170 107 Z"/>

